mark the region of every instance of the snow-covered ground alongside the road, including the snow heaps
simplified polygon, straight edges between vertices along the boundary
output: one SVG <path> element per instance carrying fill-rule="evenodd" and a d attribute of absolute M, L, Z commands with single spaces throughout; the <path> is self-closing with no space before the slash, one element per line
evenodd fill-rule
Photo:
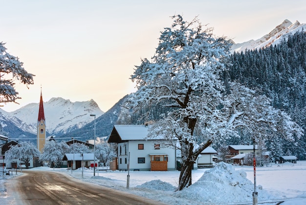
<path fill-rule="evenodd" d="M 38 171 L 56 171 L 74 178 L 111 187 L 131 194 L 176 205 L 239 205 L 252 204 L 254 174 L 252 166 L 233 166 L 220 163 L 215 168 L 193 170 L 193 185 L 176 191 L 179 171 L 130 171 L 130 188 L 127 189 L 127 171 L 71 170 L 48 167 L 33 168 Z M 306 161 L 297 164 L 272 164 L 256 168 L 258 201 L 266 205 L 306 204 Z M 16 176 L 13 172 L 13 177 Z M 9 190 L 9 178 L 0 177 L 0 204 L 14 204 Z M 6 190 L 7 189 L 7 190 Z"/>

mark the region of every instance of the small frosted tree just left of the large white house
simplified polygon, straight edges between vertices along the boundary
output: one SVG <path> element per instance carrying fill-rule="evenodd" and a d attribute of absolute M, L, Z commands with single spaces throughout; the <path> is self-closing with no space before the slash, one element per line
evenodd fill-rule
<path fill-rule="evenodd" d="M 116 151 L 109 143 L 96 144 L 96 158 L 103 162 L 104 165 L 109 165 L 112 158 L 116 156 Z"/>

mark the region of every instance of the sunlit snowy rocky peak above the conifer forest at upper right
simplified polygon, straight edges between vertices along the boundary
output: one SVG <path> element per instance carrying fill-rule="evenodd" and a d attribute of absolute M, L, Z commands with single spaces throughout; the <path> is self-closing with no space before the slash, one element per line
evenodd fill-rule
<path fill-rule="evenodd" d="M 250 40 L 243 43 L 236 43 L 232 45 L 231 52 L 241 52 L 245 50 L 252 50 L 258 48 L 264 48 L 269 45 L 275 45 L 284 38 L 286 34 L 294 34 L 297 31 L 306 29 L 306 24 L 301 24 L 299 21 L 292 23 L 289 20 L 284 20 L 280 25 L 276 26 L 271 32 L 264 35 L 258 40 Z"/>

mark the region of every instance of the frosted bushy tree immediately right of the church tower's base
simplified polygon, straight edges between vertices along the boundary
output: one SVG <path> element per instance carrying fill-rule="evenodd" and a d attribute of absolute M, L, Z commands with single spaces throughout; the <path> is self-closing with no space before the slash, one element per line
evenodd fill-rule
<path fill-rule="evenodd" d="M 43 153 L 40 156 L 40 160 L 49 161 L 59 166 L 68 149 L 69 146 L 64 141 L 59 143 L 55 141 L 47 142 L 44 145 Z"/>

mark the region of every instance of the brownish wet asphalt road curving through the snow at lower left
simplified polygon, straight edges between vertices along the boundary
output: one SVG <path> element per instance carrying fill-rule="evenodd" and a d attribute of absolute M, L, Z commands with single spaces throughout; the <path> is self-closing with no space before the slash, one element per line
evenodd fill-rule
<path fill-rule="evenodd" d="M 23 171 L 11 179 L 17 205 L 160 205 L 150 199 L 82 182 L 61 173 Z"/>

